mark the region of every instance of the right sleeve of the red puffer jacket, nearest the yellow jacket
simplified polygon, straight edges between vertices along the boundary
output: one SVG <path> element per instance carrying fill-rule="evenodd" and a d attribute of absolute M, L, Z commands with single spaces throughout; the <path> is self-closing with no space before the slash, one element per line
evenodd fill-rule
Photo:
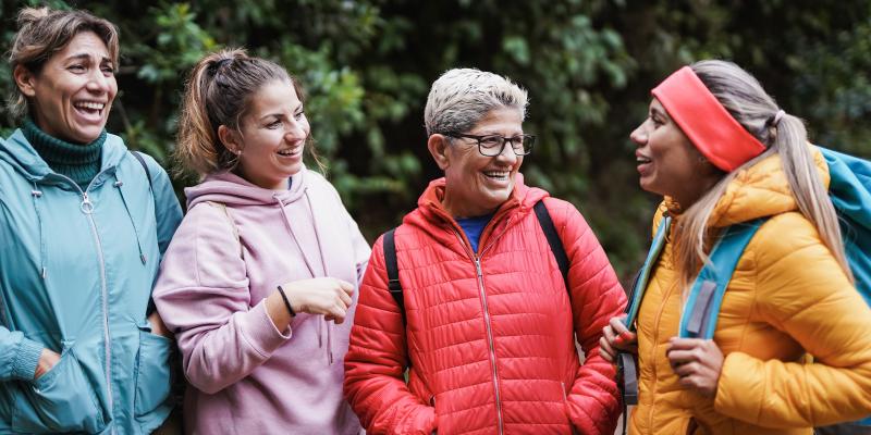
<path fill-rule="evenodd" d="M 602 246 L 580 212 L 568 202 L 545 201 L 569 260 L 575 334 L 585 352 L 567 397 L 569 419 L 584 434 L 613 434 L 621 413 L 616 370 L 599 355 L 599 338 L 626 295 Z"/>

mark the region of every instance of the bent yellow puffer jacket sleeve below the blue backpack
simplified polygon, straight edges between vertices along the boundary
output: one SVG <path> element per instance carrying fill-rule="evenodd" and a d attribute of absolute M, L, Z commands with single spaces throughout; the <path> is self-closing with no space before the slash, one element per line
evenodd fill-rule
<path fill-rule="evenodd" d="M 789 215 L 770 220 L 745 251 L 757 261 L 755 310 L 814 362 L 729 353 L 714 407 L 769 427 L 858 420 L 871 414 L 871 310 L 815 228 Z"/>

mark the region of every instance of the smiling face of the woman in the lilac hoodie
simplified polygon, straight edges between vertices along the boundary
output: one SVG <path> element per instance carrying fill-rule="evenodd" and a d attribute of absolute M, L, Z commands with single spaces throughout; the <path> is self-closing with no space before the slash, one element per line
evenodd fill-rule
<path fill-rule="evenodd" d="M 260 87 L 252 96 L 240 129 L 231 132 L 222 125 L 219 136 L 228 149 L 241 151 L 241 175 L 265 189 L 286 189 L 287 178 L 303 167 L 303 151 L 310 133 L 293 84 L 272 80 Z"/>

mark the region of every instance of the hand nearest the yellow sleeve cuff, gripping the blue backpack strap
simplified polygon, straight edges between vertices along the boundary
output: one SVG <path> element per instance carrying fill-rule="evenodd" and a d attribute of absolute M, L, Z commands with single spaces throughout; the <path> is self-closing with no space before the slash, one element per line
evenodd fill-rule
<path fill-rule="evenodd" d="M 723 352 L 714 340 L 677 338 L 668 340 L 665 356 L 678 383 L 704 397 L 716 396 L 716 384 L 723 370 Z"/>

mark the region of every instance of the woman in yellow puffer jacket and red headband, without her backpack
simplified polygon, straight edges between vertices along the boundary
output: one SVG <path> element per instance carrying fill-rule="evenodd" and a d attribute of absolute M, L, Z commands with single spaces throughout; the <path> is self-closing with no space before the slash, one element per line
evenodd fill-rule
<path fill-rule="evenodd" d="M 640 185 L 673 222 L 635 328 L 633 434 L 811 434 L 871 413 L 871 310 L 852 285 L 829 172 L 798 117 L 737 65 L 701 61 L 652 90 L 631 133 Z M 769 217 L 727 286 L 713 340 L 677 338 L 688 288 L 729 225 Z"/>

